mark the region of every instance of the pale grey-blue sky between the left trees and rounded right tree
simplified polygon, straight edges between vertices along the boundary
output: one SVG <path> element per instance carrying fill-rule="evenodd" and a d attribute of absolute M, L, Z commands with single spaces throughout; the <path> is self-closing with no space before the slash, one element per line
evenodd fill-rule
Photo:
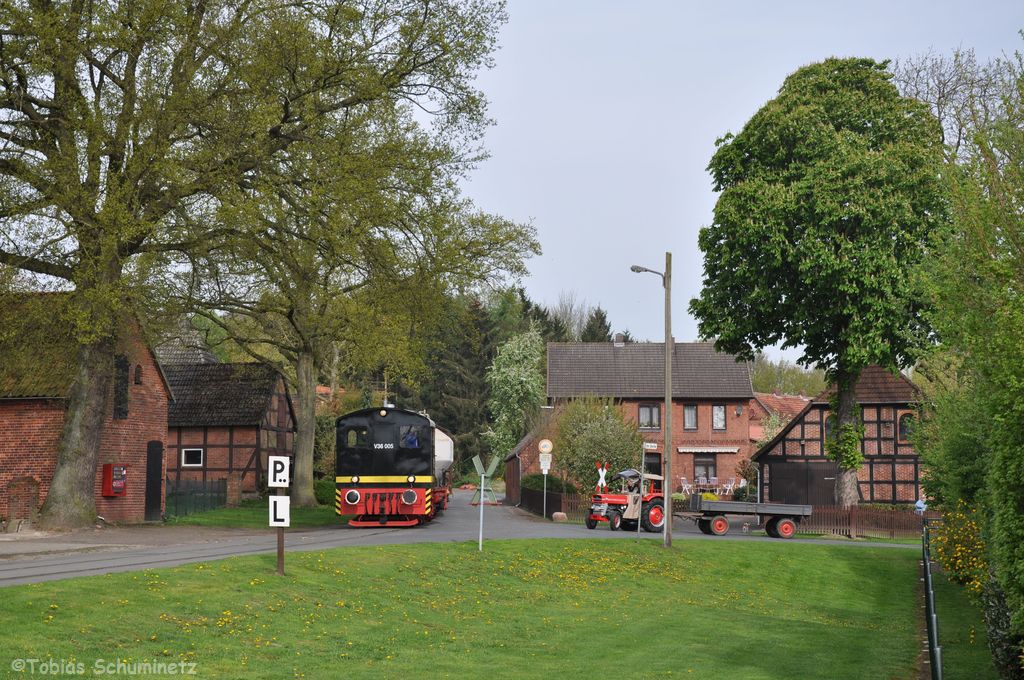
<path fill-rule="evenodd" d="M 660 281 L 673 254 L 677 341 L 697 339 L 697 233 L 716 195 L 715 140 L 737 132 L 785 77 L 829 56 L 897 59 L 973 48 L 1024 51 L 1024 0 L 684 2 L 509 0 L 479 88 L 496 120 L 465 192 L 537 229 L 529 297 L 600 305 L 614 331 L 665 338 Z M 799 357 L 774 349 L 773 357 Z"/>

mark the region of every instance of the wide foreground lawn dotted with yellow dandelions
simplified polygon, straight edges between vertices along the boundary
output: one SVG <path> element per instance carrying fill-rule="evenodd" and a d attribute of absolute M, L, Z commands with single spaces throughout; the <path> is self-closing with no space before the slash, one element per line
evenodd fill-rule
<path fill-rule="evenodd" d="M 11 658 L 206 678 L 915 678 L 918 554 L 693 541 L 345 548 L 4 588 Z"/>

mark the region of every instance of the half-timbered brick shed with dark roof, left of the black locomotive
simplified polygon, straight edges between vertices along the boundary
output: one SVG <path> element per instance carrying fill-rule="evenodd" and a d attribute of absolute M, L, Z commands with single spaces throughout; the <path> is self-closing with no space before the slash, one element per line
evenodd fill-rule
<path fill-rule="evenodd" d="M 295 413 L 285 381 L 262 364 L 169 364 L 175 401 L 168 415 L 167 475 L 237 477 L 241 491 L 266 488 L 267 456 L 291 456 Z"/>

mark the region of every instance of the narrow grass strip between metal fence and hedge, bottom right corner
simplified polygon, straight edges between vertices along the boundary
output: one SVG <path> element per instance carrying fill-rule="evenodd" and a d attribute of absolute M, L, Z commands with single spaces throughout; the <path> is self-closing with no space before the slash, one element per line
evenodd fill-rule
<path fill-rule="evenodd" d="M 933 571 L 935 611 L 939 614 L 942 671 L 947 680 L 997 680 L 985 641 L 985 620 L 967 591 Z"/>

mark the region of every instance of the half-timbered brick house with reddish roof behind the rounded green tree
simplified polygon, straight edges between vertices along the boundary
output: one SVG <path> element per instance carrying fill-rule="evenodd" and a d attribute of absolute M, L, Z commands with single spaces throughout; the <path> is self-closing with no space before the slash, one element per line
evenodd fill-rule
<path fill-rule="evenodd" d="M 762 498 L 778 503 L 835 504 L 839 468 L 825 455 L 831 426 L 828 389 L 754 455 L 761 469 Z M 878 366 L 860 374 L 854 388 L 861 408 L 864 463 L 857 471 L 864 503 L 913 503 L 922 498 L 921 463 L 908 440 L 918 388 L 902 375 Z"/>

